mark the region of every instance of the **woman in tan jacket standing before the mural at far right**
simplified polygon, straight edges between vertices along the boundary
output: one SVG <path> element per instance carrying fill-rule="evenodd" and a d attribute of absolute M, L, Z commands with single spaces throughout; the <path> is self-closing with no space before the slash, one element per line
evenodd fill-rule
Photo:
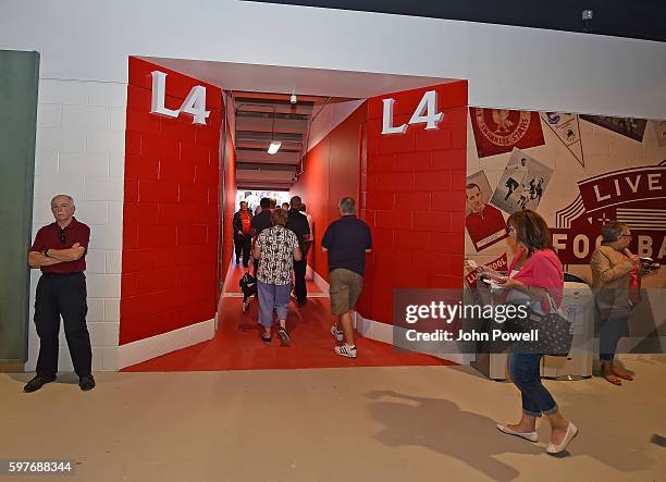
<path fill-rule="evenodd" d="M 601 321 L 599 358 L 602 376 L 614 385 L 633 378 L 613 366 L 617 343 L 627 331 L 627 321 L 633 305 L 638 302 L 641 260 L 629 250 L 631 231 L 619 221 L 602 227 L 602 245 L 590 259 L 592 287 L 596 295 L 596 308 Z M 620 380 L 621 379 L 621 380 Z"/>

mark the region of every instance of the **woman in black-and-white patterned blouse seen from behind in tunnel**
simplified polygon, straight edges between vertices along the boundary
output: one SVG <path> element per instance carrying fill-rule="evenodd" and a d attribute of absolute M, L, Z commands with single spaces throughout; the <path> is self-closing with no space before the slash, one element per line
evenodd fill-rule
<path fill-rule="evenodd" d="M 271 343 L 273 311 L 278 313 L 278 335 L 283 345 L 289 344 L 286 330 L 287 306 L 294 260 L 300 261 L 303 255 L 298 238 L 285 227 L 287 212 L 275 209 L 271 213 L 272 227 L 261 231 L 257 237 L 254 257 L 261 262 L 257 272 L 257 297 L 259 298 L 259 323 L 263 326 L 261 341 Z"/>

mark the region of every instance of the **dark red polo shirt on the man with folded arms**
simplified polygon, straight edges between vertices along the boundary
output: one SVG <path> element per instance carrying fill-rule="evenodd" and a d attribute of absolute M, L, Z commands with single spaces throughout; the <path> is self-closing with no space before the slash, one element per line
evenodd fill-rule
<path fill-rule="evenodd" d="M 86 252 L 76 261 L 66 261 L 50 267 L 41 267 L 42 273 L 77 273 L 86 270 L 86 254 L 88 252 L 88 242 L 90 240 L 90 228 L 72 218 L 70 224 L 64 230 L 64 243 L 61 240 L 60 226 L 57 222 L 47 224 L 37 232 L 35 243 L 30 251 L 44 252 L 45 249 L 69 249 L 78 243 L 86 248 Z"/>

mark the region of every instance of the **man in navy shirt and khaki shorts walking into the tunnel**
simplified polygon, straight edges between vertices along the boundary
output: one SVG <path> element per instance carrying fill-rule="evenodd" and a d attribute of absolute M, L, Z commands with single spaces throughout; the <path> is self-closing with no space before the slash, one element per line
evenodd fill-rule
<path fill-rule="evenodd" d="M 331 312 L 337 314 L 331 334 L 338 342 L 344 336 L 345 343 L 335 347 L 337 355 L 356 358 L 351 310 L 363 287 L 366 254 L 372 250 L 372 236 L 370 227 L 356 217 L 354 198 L 342 198 L 338 208 L 341 219 L 326 228 L 321 240 L 322 251 L 329 252 Z"/>

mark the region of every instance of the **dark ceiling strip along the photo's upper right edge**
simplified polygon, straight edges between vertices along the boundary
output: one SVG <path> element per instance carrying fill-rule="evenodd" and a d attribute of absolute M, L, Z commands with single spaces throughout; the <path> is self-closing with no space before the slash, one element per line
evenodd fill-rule
<path fill-rule="evenodd" d="M 666 0 L 266 1 L 666 41 Z M 583 21 L 582 11 L 592 20 Z"/>

